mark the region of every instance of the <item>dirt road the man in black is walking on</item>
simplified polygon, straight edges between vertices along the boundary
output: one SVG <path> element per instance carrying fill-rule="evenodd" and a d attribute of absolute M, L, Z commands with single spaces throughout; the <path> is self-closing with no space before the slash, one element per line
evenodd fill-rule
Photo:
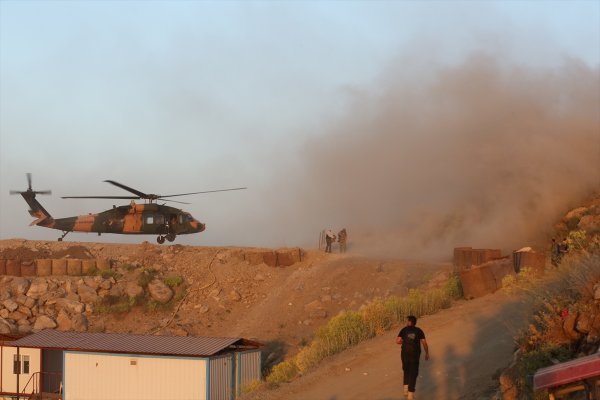
<path fill-rule="evenodd" d="M 418 321 L 431 359 L 421 360 L 419 400 L 489 399 L 498 370 L 512 360 L 515 333 L 526 326 L 523 298 L 495 293 L 460 301 Z M 252 399 L 401 400 L 396 331 L 332 357 L 302 378 Z"/>

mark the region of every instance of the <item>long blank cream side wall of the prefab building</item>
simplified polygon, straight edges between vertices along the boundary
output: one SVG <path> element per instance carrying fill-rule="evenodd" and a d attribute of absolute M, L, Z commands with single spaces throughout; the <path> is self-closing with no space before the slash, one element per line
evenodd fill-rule
<path fill-rule="evenodd" d="M 64 400 L 207 399 L 207 359 L 64 352 Z"/>

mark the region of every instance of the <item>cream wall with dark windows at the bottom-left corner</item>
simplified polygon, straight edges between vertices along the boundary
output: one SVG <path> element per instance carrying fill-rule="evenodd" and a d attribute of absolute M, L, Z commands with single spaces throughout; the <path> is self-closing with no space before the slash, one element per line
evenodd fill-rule
<path fill-rule="evenodd" d="M 17 371 L 19 372 L 19 392 L 26 385 L 33 388 L 32 376 L 40 372 L 40 349 L 19 349 L 17 360 L 17 348 L 2 346 L 2 376 L 0 379 L 0 393 L 17 393 Z M 17 362 L 18 361 L 18 362 Z"/>

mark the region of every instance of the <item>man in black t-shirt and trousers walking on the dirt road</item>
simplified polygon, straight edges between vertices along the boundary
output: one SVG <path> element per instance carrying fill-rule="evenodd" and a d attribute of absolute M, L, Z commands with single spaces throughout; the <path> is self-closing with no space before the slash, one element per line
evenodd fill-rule
<path fill-rule="evenodd" d="M 429 347 L 425 340 L 425 333 L 416 327 L 417 318 L 413 315 L 406 317 L 406 326 L 400 330 L 396 343 L 402 345 L 402 370 L 404 371 L 404 396 L 413 400 L 415 385 L 419 376 L 419 359 L 421 358 L 421 345 L 425 350 L 425 360 L 429 360 Z"/>

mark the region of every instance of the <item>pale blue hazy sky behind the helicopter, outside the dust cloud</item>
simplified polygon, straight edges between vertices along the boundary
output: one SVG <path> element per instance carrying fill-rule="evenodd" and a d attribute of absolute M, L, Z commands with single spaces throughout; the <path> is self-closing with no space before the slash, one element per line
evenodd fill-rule
<path fill-rule="evenodd" d="M 158 194 L 248 186 L 186 198 L 192 204 L 184 208 L 207 230 L 177 242 L 316 245 L 319 229 L 352 226 L 349 215 L 361 204 L 367 219 L 378 206 L 329 214 L 311 201 L 296 203 L 307 193 L 319 198 L 328 183 L 303 171 L 336 158 L 328 152 L 339 148 L 331 143 L 343 148 L 348 140 L 343 127 L 360 123 L 368 135 L 378 126 L 370 125 L 375 117 L 353 117 L 376 116 L 372 109 L 381 109 L 392 87 L 407 102 L 408 83 L 435 82 L 439 71 L 471 65 L 467 60 L 481 52 L 508 75 L 528 71 L 525 83 L 532 71 L 552 82 L 563 73 L 589 73 L 583 86 L 591 85 L 591 94 L 577 99 L 596 102 L 600 3 L 0 0 L 0 239 L 60 234 L 29 227 L 26 203 L 8 194 L 25 189 L 31 172 L 35 189 L 52 189 L 39 200 L 55 217 L 121 204 L 60 199 L 128 194 L 105 179 Z M 560 97 L 564 87 L 548 95 Z M 373 98 L 379 100 L 365 100 Z M 600 162 L 598 113 L 592 108 L 584 116 L 591 122 L 582 125 L 598 150 L 587 164 Z M 462 117 L 468 125 L 469 115 Z M 396 135 L 412 140 L 407 131 Z M 427 146 L 452 140 L 440 135 Z M 436 151 L 443 158 L 443 148 Z M 600 183 L 594 179 L 576 189 Z M 343 182 L 355 186 L 351 178 Z M 404 200 L 394 197 L 399 207 Z M 69 239 L 155 240 L 83 233 Z"/>

